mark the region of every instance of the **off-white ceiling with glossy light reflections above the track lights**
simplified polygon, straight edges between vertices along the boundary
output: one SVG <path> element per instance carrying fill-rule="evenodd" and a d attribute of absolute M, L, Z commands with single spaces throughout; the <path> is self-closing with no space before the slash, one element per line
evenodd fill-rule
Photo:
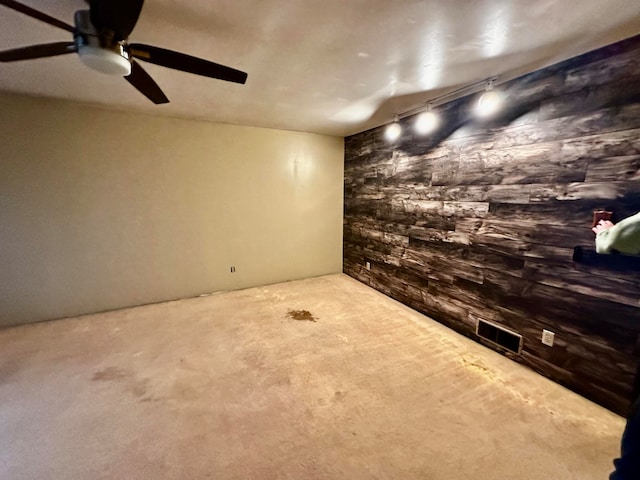
<path fill-rule="evenodd" d="M 22 0 L 73 24 L 84 0 Z M 153 105 L 76 55 L 0 64 L 0 90 L 241 125 L 349 135 L 462 85 L 640 33 L 638 0 L 147 0 L 130 40 L 249 74 L 246 85 L 140 62 Z M 0 50 L 70 35 L 0 6 Z"/>

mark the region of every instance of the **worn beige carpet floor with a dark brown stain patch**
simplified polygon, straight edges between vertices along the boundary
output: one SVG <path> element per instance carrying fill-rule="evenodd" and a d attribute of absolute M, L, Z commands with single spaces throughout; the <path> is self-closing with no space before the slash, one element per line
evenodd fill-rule
<path fill-rule="evenodd" d="M 0 355 L 2 479 L 605 480 L 624 426 L 344 275 L 5 329 Z"/>

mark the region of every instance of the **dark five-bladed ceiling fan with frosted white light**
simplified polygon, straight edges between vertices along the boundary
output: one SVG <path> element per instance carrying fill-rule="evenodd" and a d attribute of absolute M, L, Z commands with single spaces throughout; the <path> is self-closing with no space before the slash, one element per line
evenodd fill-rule
<path fill-rule="evenodd" d="M 168 103 L 169 99 L 135 59 L 228 82 L 244 84 L 247 81 L 247 74 L 235 68 L 165 48 L 129 43 L 129 35 L 138 21 L 144 0 L 88 0 L 87 3 L 89 10 L 78 10 L 72 27 L 14 0 L 0 0 L 0 5 L 73 34 L 72 42 L 5 50 L 0 52 L 0 62 L 77 53 L 94 70 L 123 76 L 156 104 Z"/>

